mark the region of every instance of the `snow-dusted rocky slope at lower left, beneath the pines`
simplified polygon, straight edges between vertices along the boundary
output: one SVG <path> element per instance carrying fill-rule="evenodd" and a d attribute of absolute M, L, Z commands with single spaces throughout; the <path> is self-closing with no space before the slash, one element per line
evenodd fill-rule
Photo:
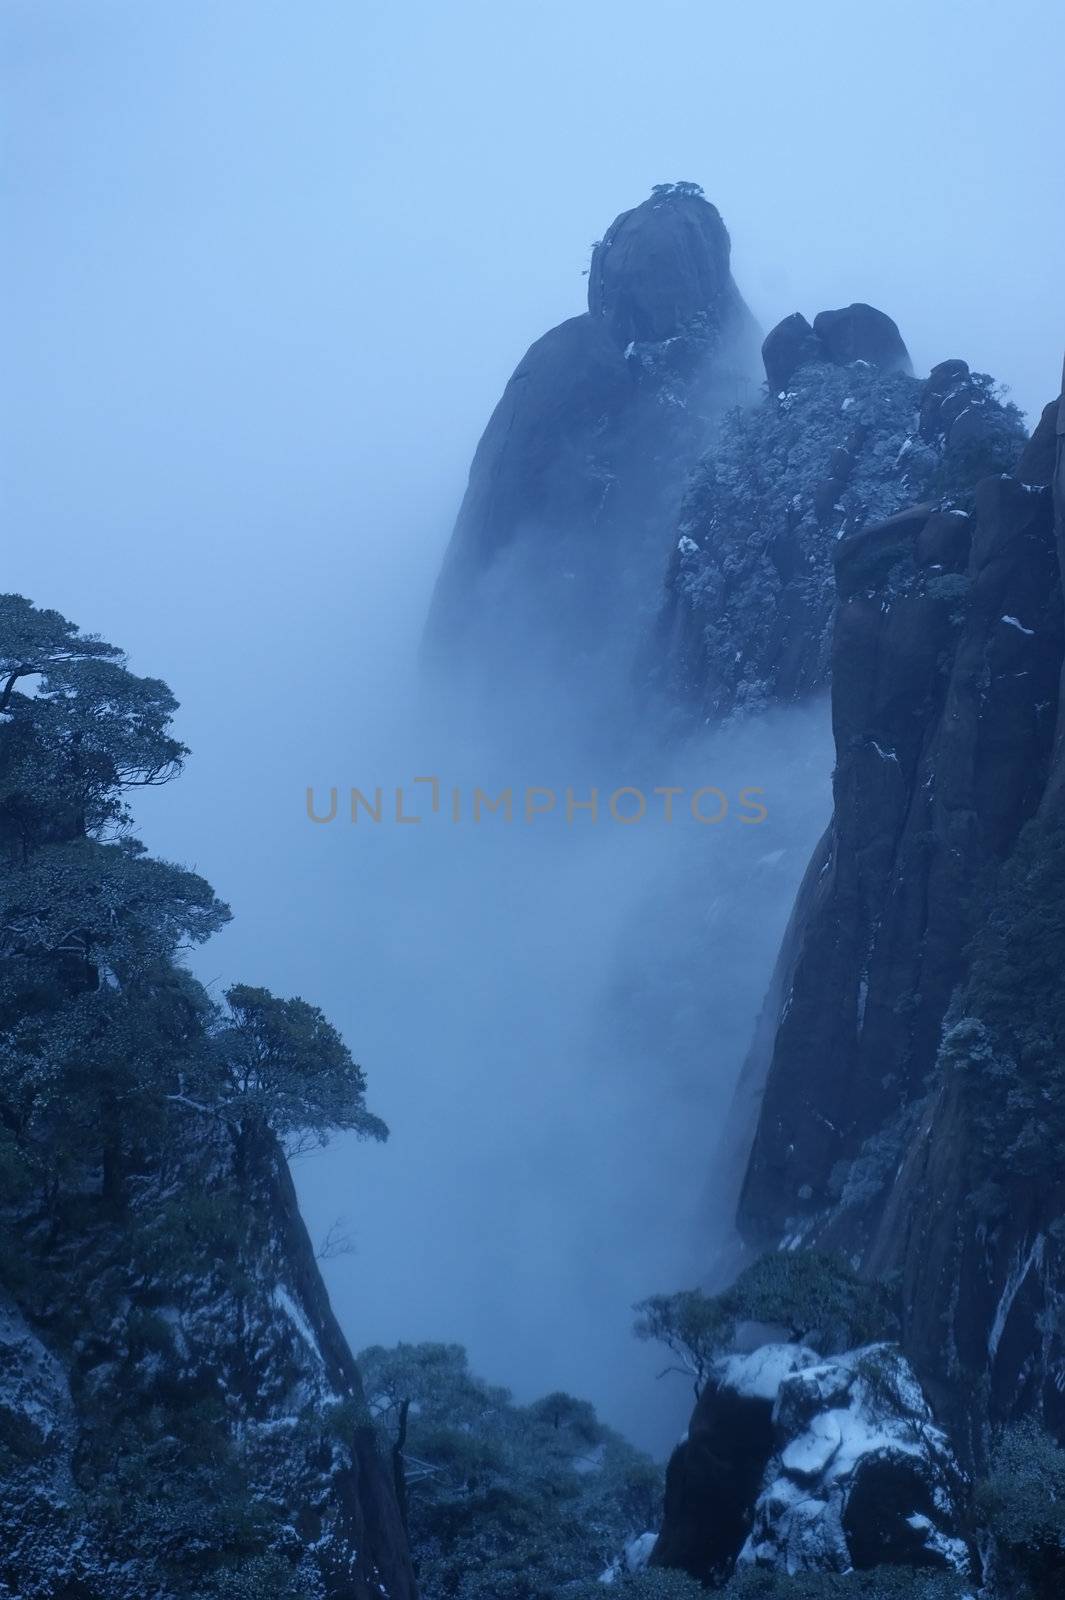
<path fill-rule="evenodd" d="M 86 1195 L 46 1243 L 0 1312 L 2 1595 L 413 1600 L 392 1477 L 270 1138 L 235 1160 L 217 1126 L 178 1126 L 128 1211 Z"/>

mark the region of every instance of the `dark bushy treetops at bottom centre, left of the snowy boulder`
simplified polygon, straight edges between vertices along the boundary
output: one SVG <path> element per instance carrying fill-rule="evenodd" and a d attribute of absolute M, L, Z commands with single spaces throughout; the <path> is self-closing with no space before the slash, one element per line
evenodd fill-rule
<path fill-rule="evenodd" d="M 553 1600 L 657 1528 L 660 1467 L 587 1400 L 515 1405 L 454 1344 L 374 1346 L 358 1365 L 382 1448 L 401 1451 L 411 1550 L 432 1600 Z"/>

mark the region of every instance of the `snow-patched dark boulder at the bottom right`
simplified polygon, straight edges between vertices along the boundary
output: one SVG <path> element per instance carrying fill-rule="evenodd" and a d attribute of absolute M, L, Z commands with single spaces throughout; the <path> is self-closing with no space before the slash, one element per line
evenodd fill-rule
<path fill-rule="evenodd" d="M 824 1360 L 734 1355 L 699 1398 L 667 1474 L 652 1565 L 720 1582 L 881 1565 L 969 1571 L 963 1474 L 894 1346 Z"/>

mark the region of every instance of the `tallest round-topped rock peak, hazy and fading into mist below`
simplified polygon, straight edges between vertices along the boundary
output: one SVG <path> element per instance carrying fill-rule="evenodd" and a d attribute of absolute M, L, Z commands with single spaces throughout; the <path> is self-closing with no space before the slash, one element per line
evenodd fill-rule
<path fill-rule="evenodd" d="M 753 379 L 729 237 L 667 184 L 596 245 L 588 310 L 520 362 L 470 469 L 427 624 L 429 659 L 539 677 L 628 640 L 652 603 L 684 474 Z"/>

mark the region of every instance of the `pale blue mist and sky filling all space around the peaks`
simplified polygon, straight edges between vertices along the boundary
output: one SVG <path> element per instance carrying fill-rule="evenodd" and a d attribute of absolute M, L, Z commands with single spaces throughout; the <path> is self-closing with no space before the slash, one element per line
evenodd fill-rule
<path fill-rule="evenodd" d="M 417 642 L 510 370 L 662 179 L 720 206 L 763 326 L 868 299 L 918 371 L 964 355 L 1031 416 L 1055 394 L 1062 216 L 1023 160 L 1051 139 L 1031 40 L 1055 8 L 1006 30 L 985 0 L 907 0 L 860 38 L 851 16 L 16 0 L 2 21 L 3 587 L 182 702 L 192 760 L 139 824 L 233 907 L 200 976 L 302 994 L 368 1072 L 390 1142 L 296 1166 L 312 1235 L 352 1234 L 325 1264 L 352 1347 L 465 1342 L 521 1398 L 571 1389 L 656 1451 L 689 1395 L 670 1379 L 670 1416 L 630 1306 L 728 1246 L 718 1134 L 828 813 L 827 709 L 665 762 L 651 736 L 558 738 L 556 685 L 493 741 L 425 694 Z M 822 82 L 795 82 L 811 32 Z M 425 774 L 459 822 L 448 800 L 390 819 L 397 786 L 425 811 Z M 526 784 L 758 787 L 768 816 L 568 826 L 560 798 L 472 822 L 473 787 Z M 339 789 L 334 822 L 309 786 Z M 382 786 L 379 824 L 349 822 L 352 786 Z"/>

